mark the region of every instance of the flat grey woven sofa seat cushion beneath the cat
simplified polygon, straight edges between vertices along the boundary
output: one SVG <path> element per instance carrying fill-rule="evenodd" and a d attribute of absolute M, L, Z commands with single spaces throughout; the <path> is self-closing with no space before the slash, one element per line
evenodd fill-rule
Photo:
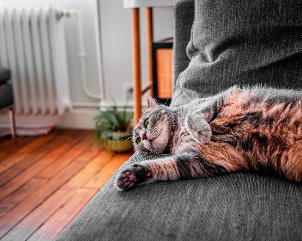
<path fill-rule="evenodd" d="M 123 165 L 154 158 L 135 153 Z M 61 233 L 76 240 L 301 240 L 302 185 L 256 173 L 114 187 Z"/>

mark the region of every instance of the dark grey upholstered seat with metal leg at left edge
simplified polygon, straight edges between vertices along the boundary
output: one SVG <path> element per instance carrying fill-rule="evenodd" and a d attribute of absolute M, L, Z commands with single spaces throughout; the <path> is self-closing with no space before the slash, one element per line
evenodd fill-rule
<path fill-rule="evenodd" d="M 7 81 L 11 78 L 11 71 L 0 67 L 0 110 L 8 108 L 9 119 L 11 124 L 11 136 L 13 139 L 16 136 L 15 132 L 15 118 L 14 118 L 14 96 L 11 84 Z"/>

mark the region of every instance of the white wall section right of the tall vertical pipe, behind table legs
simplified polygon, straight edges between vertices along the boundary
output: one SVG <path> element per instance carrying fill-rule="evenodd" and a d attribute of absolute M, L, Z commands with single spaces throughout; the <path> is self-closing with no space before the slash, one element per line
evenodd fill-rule
<path fill-rule="evenodd" d="M 123 83 L 132 82 L 131 10 L 121 0 L 99 0 L 101 48 L 105 98 L 123 99 Z M 172 37 L 173 9 L 155 8 L 153 36 L 155 40 Z M 140 9 L 140 43 L 142 83 L 147 83 L 145 9 Z"/>

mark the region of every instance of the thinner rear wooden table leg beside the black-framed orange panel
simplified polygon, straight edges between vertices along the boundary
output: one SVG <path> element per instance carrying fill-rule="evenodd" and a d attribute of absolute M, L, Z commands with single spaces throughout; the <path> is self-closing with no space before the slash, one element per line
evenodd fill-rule
<path fill-rule="evenodd" d="M 152 74 L 152 42 L 153 42 L 153 22 L 152 8 L 146 8 L 146 40 L 147 40 L 147 64 L 148 64 L 148 81 L 153 82 Z M 149 89 L 149 95 L 153 96 L 153 88 Z"/>

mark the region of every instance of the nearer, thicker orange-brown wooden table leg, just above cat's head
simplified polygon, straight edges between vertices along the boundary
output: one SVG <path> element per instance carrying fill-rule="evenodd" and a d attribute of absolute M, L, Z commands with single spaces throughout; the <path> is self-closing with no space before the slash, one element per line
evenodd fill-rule
<path fill-rule="evenodd" d="M 138 8 L 131 9 L 132 23 L 132 68 L 133 68 L 133 101 L 134 126 L 137 125 L 142 114 L 141 82 L 140 82 L 140 14 Z"/>

